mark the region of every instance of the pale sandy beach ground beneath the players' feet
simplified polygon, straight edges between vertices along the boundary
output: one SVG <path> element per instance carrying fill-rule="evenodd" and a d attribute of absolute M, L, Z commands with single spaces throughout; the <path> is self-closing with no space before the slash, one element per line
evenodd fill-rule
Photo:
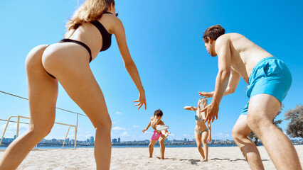
<path fill-rule="evenodd" d="M 295 146 L 302 165 L 303 145 Z M 264 147 L 258 147 L 265 169 L 275 169 Z M 250 169 L 238 147 L 210 147 L 208 162 L 201 162 L 195 147 L 166 148 L 165 160 L 159 147 L 149 158 L 148 148 L 112 148 L 111 169 Z M 0 157 L 4 150 L 0 151 Z M 95 169 L 92 148 L 38 149 L 28 154 L 18 169 Z"/>

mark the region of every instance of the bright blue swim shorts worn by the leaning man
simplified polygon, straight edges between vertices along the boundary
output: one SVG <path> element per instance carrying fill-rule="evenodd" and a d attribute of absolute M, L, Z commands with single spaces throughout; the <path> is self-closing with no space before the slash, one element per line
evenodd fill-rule
<path fill-rule="evenodd" d="M 252 69 L 246 96 L 250 98 L 257 94 L 270 94 L 282 103 L 291 85 L 292 74 L 286 64 L 275 57 L 267 57 Z M 248 104 L 249 101 L 241 115 L 248 114 Z"/>

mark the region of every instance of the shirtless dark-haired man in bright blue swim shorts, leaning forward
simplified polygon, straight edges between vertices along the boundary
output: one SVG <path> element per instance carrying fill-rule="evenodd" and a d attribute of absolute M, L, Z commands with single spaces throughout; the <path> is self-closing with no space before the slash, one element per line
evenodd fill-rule
<path fill-rule="evenodd" d="M 235 123 L 232 135 L 250 168 L 264 169 L 257 147 L 248 139 L 252 131 L 262 141 L 277 169 L 302 169 L 294 145 L 272 124 L 292 84 L 286 64 L 243 35 L 225 34 L 220 25 L 207 28 L 203 40 L 208 54 L 218 55 L 215 91 L 198 92 L 200 96 L 213 97 L 211 104 L 203 110 L 206 121 L 213 122 L 218 118 L 221 99 L 233 94 L 243 77 L 250 99 Z"/>

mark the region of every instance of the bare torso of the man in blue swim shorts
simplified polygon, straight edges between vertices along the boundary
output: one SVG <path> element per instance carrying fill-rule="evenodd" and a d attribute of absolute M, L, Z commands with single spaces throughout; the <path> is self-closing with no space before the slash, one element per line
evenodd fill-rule
<path fill-rule="evenodd" d="M 265 57 L 272 57 L 272 55 L 263 50 L 262 47 L 256 45 L 254 42 L 245 38 L 245 36 L 238 33 L 228 33 L 221 35 L 220 40 L 230 41 L 230 69 L 240 74 L 244 81 L 248 83 L 248 79 L 257 62 Z M 216 43 L 217 44 L 217 43 Z M 218 47 L 216 46 L 216 49 Z"/>

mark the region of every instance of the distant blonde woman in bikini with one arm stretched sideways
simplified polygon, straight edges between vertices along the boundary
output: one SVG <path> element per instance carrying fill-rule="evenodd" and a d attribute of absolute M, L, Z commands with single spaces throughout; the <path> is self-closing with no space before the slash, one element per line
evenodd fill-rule
<path fill-rule="evenodd" d="M 207 106 L 207 100 L 205 98 L 200 98 L 198 101 L 198 108 L 193 106 L 185 106 L 184 109 L 188 111 L 195 111 L 196 127 L 195 127 L 195 138 L 198 151 L 203 157 L 203 161 L 208 160 L 208 142 L 211 142 L 211 123 L 208 123 L 208 128 L 205 125 L 205 113 L 201 113 Z M 203 148 L 202 148 L 203 145 Z"/>

